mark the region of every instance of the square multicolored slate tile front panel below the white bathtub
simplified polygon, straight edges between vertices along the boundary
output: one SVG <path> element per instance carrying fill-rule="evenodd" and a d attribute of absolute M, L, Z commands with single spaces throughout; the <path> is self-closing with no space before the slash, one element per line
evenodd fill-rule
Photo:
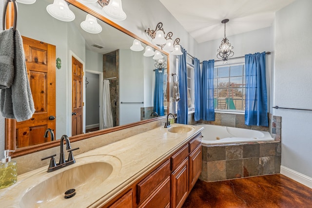
<path fill-rule="evenodd" d="M 211 182 L 279 173 L 280 164 L 280 141 L 203 146 L 200 179 Z"/>

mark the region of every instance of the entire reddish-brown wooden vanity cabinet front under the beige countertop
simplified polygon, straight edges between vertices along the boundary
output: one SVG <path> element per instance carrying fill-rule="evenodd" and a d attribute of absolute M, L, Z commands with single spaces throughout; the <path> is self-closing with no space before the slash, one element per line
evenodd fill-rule
<path fill-rule="evenodd" d="M 103 208 L 181 208 L 201 172 L 201 133 Z"/>

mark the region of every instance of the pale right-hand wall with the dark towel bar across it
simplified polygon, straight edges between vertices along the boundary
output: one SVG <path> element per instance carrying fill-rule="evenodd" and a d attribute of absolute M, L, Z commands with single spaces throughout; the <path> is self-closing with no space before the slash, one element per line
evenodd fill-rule
<path fill-rule="evenodd" d="M 276 12 L 274 105 L 312 109 L 311 8 L 311 0 L 296 0 Z M 282 116 L 282 166 L 311 179 L 312 112 L 273 113 Z"/>

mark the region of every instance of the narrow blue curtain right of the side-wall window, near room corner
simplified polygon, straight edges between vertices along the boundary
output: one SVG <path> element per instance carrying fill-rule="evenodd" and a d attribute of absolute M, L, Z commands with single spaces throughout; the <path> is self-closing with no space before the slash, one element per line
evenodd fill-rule
<path fill-rule="evenodd" d="M 200 65 L 199 65 L 199 60 L 197 58 L 194 58 L 194 85 L 195 85 L 194 120 L 199 121 L 200 120 L 200 95 L 202 95 L 202 92 L 201 92 Z"/>

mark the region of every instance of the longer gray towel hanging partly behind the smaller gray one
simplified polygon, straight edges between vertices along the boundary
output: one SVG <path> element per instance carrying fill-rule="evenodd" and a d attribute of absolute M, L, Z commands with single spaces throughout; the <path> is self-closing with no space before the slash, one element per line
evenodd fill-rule
<path fill-rule="evenodd" d="M 14 81 L 10 88 L 1 89 L 0 111 L 3 117 L 24 121 L 33 116 L 35 107 L 27 77 L 23 42 L 18 30 L 14 34 L 13 63 Z"/>

